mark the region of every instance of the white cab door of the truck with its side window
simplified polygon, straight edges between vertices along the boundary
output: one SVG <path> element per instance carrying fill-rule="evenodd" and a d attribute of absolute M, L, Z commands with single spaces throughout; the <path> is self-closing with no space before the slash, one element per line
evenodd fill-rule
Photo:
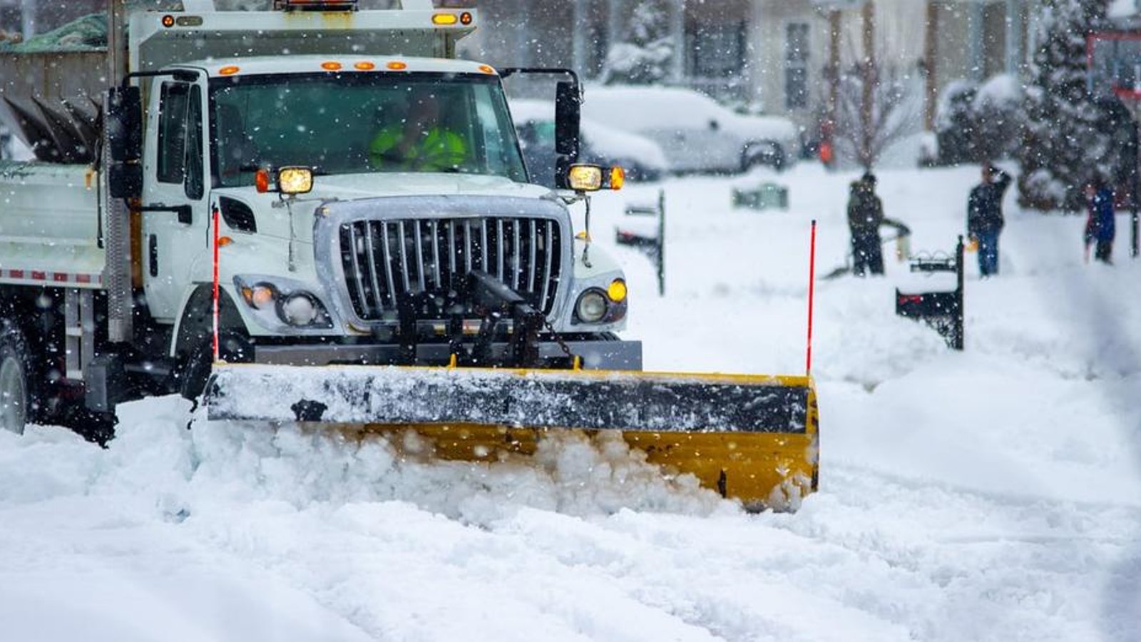
<path fill-rule="evenodd" d="M 204 91 L 161 78 L 152 91 L 143 178 L 143 279 L 151 314 L 172 321 L 209 251 L 205 199 Z M 208 256 L 208 255 L 207 255 Z"/>

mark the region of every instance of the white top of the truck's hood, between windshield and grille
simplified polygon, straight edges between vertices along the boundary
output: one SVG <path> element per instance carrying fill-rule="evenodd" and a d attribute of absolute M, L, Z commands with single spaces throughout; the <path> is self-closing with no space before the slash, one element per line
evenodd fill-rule
<path fill-rule="evenodd" d="M 258 234 L 290 238 L 290 212 L 293 238 L 313 242 L 314 210 L 327 202 L 362 201 L 390 196 L 464 196 L 495 195 L 541 199 L 552 192 L 540 185 L 515 183 L 499 176 L 459 174 L 348 174 L 314 177 L 313 191 L 283 206 L 276 193 L 259 194 L 254 187 L 222 187 L 212 191 L 211 204 L 220 198 L 241 201 L 253 210 Z M 286 201 L 288 202 L 288 201 Z M 222 227 L 226 231 L 226 227 Z"/>

